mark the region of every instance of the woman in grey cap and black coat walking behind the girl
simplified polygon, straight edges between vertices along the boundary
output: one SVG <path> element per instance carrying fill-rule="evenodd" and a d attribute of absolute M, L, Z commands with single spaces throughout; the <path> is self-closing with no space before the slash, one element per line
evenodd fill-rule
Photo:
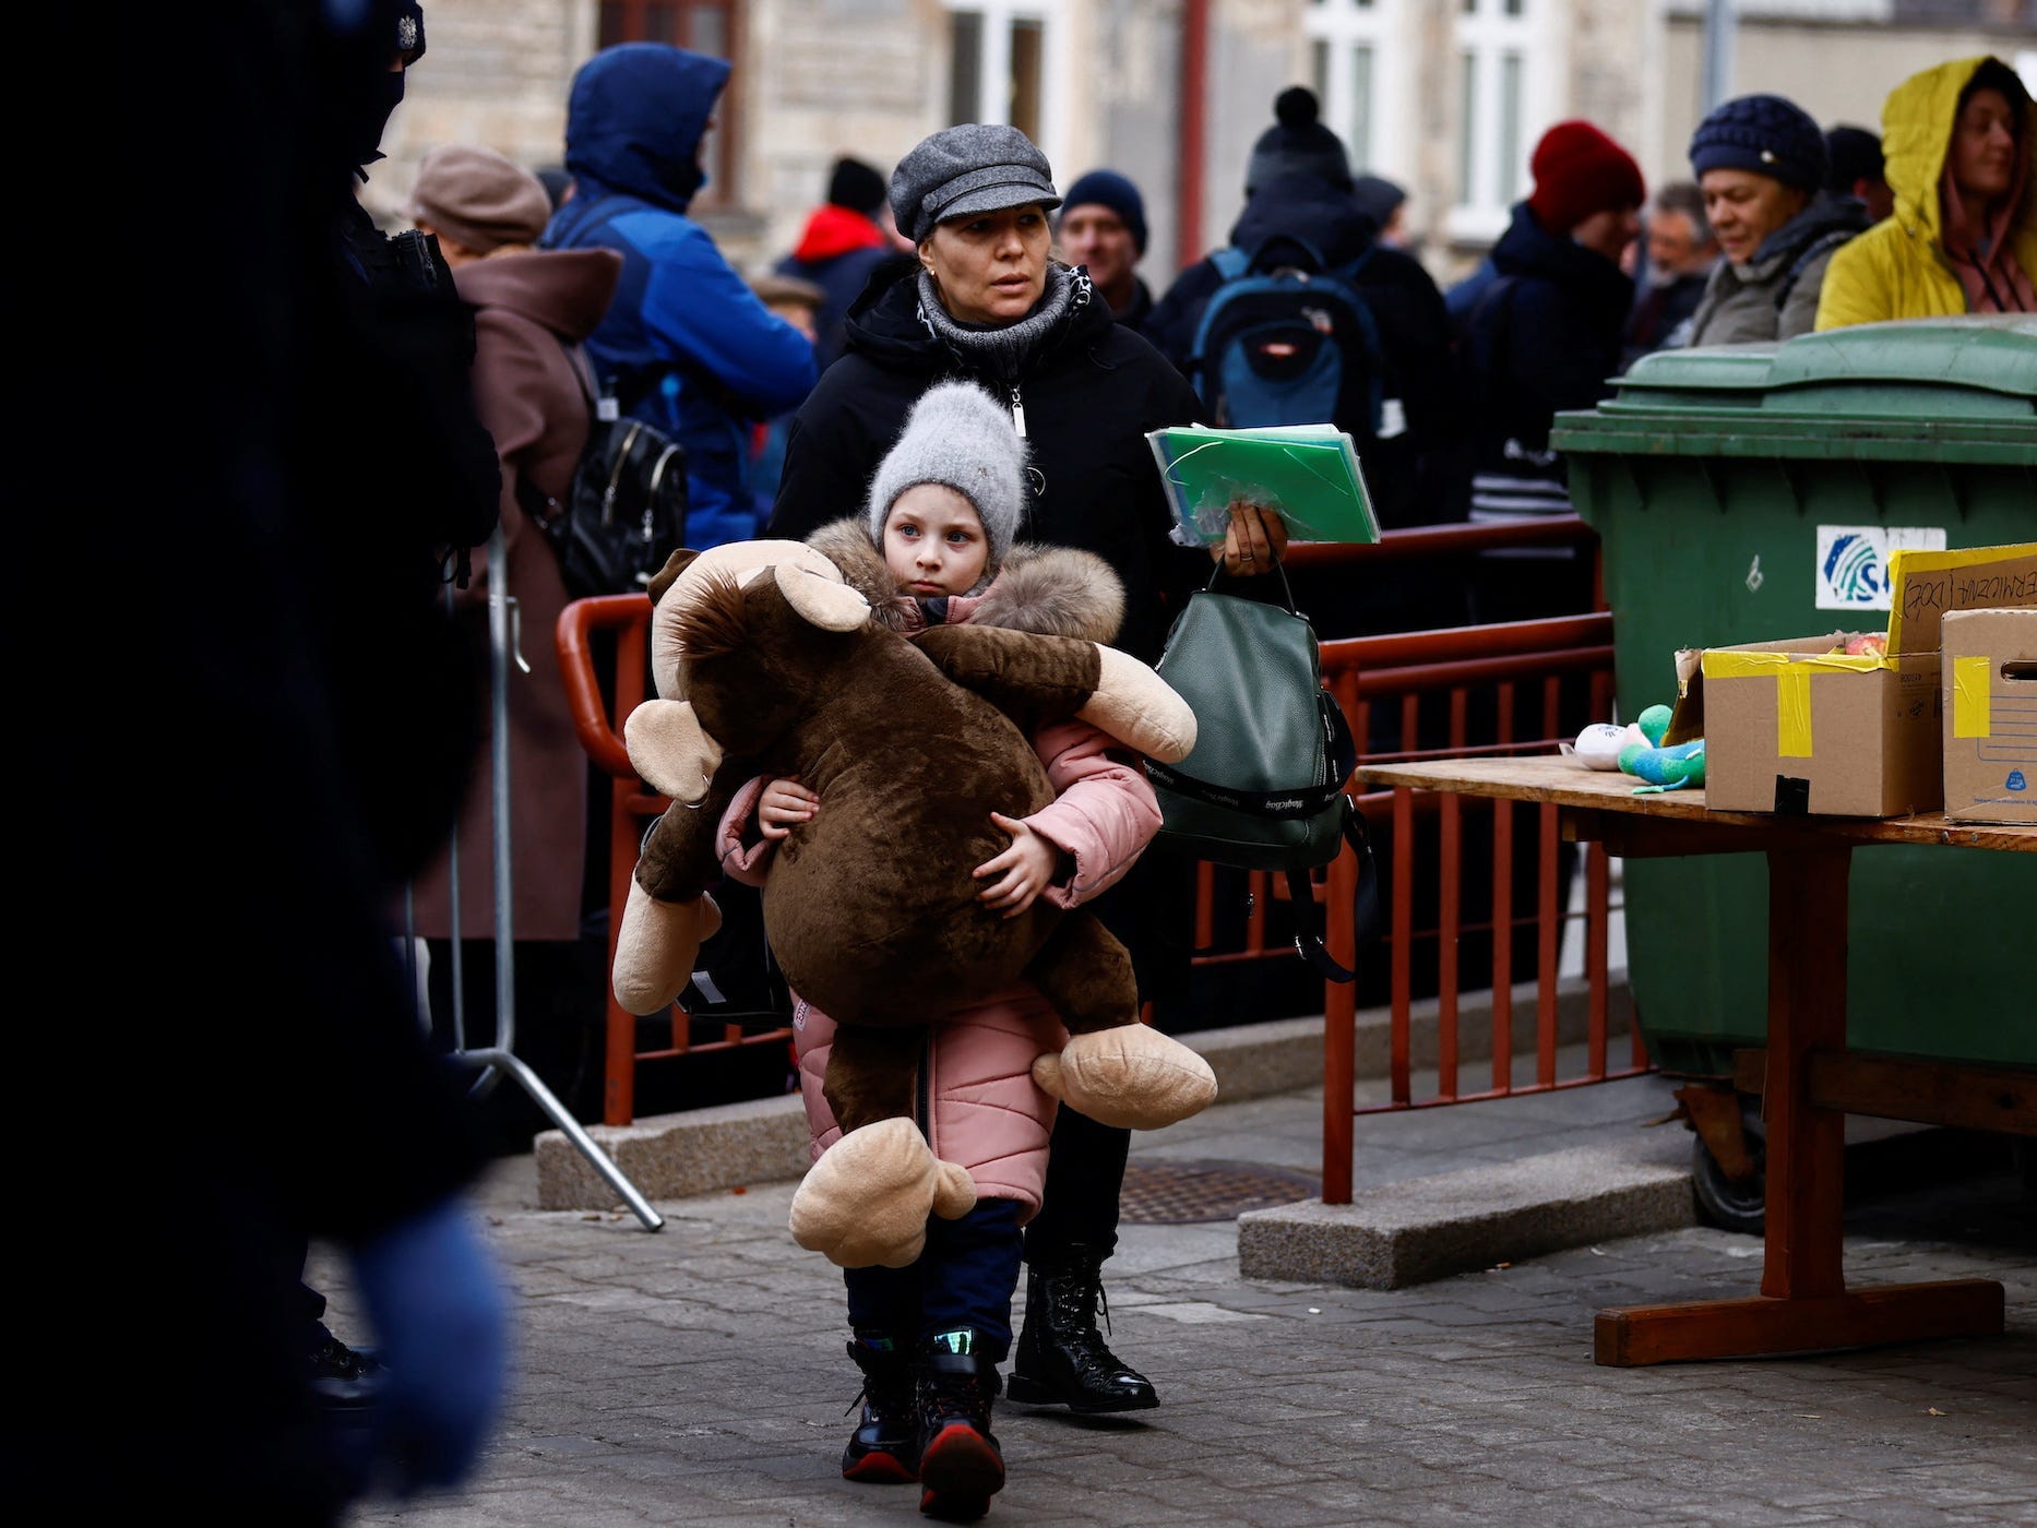
<path fill-rule="evenodd" d="M 1169 540 L 1145 436 L 1198 420 L 1194 389 L 1147 340 L 1114 324 L 1088 273 L 1049 259 L 1059 206 L 1045 155 L 1016 128 L 964 124 L 925 139 L 892 173 L 896 224 L 919 244 L 872 277 L 845 350 L 792 420 L 770 536 L 803 540 L 854 511 L 906 412 L 933 383 L 970 379 L 1010 399 L 1031 456 L 1021 538 L 1102 556 L 1124 581 L 1118 646 L 1151 662 L 1210 554 Z M 1232 509 L 1218 556 L 1267 570 L 1277 515 Z M 1194 876 L 1155 843 L 1092 905 L 1131 949 L 1141 996 L 1165 1011 L 1188 986 Z M 1116 1245 L 1128 1131 L 1061 1106 L 1045 1206 L 1027 1226 L 1025 1330 L 1014 1400 L 1078 1412 L 1157 1406 L 1153 1385 L 1096 1330 L 1102 1263 Z"/>

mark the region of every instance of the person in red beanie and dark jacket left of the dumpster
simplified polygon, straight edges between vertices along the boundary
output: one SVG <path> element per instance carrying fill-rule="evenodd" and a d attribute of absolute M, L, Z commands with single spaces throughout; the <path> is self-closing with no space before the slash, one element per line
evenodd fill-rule
<path fill-rule="evenodd" d="M 1648 196 L 1634 157 L 1591 122 L 1558 122 L 1528 163 L 1534 189 L 1479 273 L 1448 295 L 1473 430 L 1471 520 L 1487 524 L 1571 513 L 1548 430 L 1558 410 L 1611 391 L 1634 304 L 1619 257 Z M 1489 554 L 1471 605 L 1477 621 L 1589 611 L 1591 564 L 1560 546 L 1534 560 Z"/>

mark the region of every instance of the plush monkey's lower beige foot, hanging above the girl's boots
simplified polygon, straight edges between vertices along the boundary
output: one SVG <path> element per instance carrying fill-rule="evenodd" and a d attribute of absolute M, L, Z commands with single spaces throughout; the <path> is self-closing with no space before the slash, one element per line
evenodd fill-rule
<path fill-rule="evenodd" d="M 837 1267 L 904 1267 L 927 1245 L 927 1216 L 976 1208 L 966 1167 L 941 1161 L 909 1118 L 835 1141 L 792 1194 L 792 1241 Z"/>

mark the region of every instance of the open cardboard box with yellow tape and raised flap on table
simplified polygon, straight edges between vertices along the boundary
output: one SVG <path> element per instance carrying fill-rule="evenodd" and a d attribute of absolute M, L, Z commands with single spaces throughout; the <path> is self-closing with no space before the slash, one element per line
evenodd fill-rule
<path fill-rule="evenodd" d="M 1903 817 L 1945 801 L 1939 623 L 2037 607 L 2037 542 L 1896 552 L 1886 652 L 1852 634 L 1676 654 L 1664 742 L 1705 740 L 1705 805 L 1813 817 Z"/>

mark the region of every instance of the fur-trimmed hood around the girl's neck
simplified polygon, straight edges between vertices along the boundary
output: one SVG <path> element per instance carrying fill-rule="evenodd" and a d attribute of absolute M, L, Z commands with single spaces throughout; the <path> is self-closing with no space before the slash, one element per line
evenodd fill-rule
<path fill-rule="evenodd" d="M 870 544 L 860 515 L 821 526 L 807 544 L 841 568 L 849 587 L 894 632 L 915 632 L 929 621 L 968 621 L 1108 644 L 1124 621 L 1124 585 L 1118 575 L 1094 552 L 1073 546 L 1021 542 L 1004 556 L 1004 566 L 984 593 L 917 601 L 898 593 L 898 581 Z"/>

